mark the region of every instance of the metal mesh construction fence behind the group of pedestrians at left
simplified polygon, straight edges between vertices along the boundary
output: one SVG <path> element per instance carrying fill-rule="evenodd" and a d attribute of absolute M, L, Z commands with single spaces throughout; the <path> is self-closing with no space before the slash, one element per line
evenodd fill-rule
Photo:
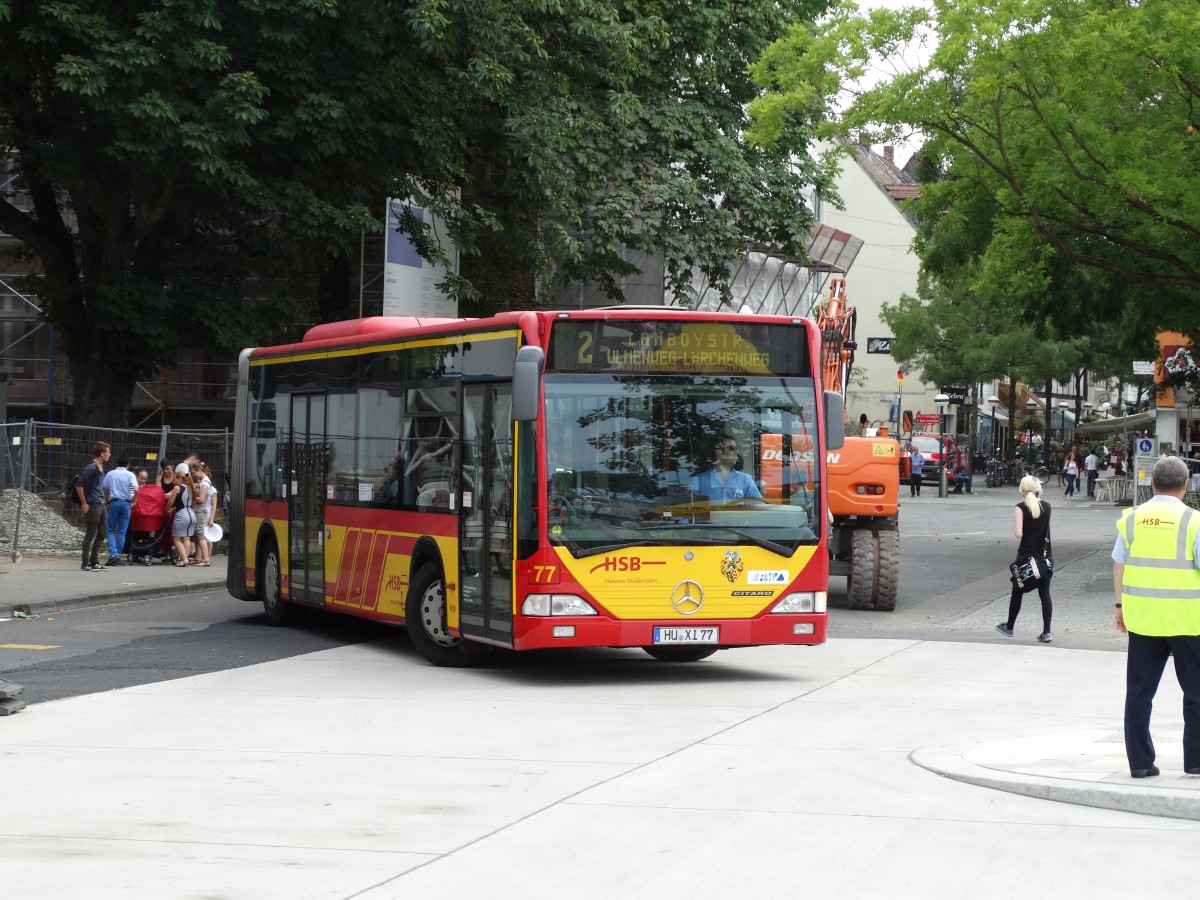
<path fill-rule="evenodd" d="M 144 468 L 151 480 L 162 461 L 178 463 L 194 454 L 212 469 L 218 497 L 230 466 L 228 428 L 100 428 L 29 420 L 0 425 L 0 553 L 14 562 L 23 552 L 83 546 L 83 517 L 67 499 L 67 486 L 91 462 L 100 440 L 113 448 L 110 467 L 127 457 L 131 470 Z"/>

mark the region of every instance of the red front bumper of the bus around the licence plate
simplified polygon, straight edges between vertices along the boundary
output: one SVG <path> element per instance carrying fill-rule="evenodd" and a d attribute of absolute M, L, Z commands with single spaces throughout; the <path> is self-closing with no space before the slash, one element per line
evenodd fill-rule
<path fill-rule="evenodd" d="M 782 616 L 766 613 L 755 619 L 617 622 L 600 616 L 552 616 L 524 618 L 517 626 L 514 649 L 551 647 L 653 647 L 655 628 L 719 629 L 716 647 L 762 644 L 821 644 L 826 642 L 826 613 Z M 811 634 L 804 634 L 811 631 Z M 672 644 L 659 644 L 672 646 Z M 679 644 L 673 644 L 679 646 Z"/>

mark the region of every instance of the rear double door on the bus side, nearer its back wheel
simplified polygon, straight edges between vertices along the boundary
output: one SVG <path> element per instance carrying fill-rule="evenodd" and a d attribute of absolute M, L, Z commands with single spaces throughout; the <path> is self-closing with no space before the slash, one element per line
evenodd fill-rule
<path fill-rule="evenodd" d="M 292 397 L 292 484 L 288 486 L 288 596 L 325 601 L 325 397 Z"/>

